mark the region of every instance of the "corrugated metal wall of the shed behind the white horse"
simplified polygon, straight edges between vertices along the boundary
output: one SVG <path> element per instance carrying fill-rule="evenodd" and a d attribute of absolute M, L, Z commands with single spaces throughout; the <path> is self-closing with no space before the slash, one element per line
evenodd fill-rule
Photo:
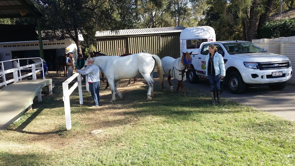
<path fill-rule="evenodd" d="M 124 36 L 97 38 L 98 51 L 106 55 L 122 55 L 123 53 L 146 53 L 158 55 L 160 58 L 180 57 L 180 32 L 162 35 Z M 125 51 L 124 51 L 125 49 Z"/>

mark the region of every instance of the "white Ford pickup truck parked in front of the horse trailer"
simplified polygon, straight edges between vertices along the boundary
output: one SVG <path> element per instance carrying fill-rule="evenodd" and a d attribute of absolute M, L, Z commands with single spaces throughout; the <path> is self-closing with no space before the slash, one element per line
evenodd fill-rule
<path fill-rule="evenodd" d="M 289 58 L 268 53 L 249 41 L 204 42 L 198 53 L 193 53 L 192 69 L 187 72 L 190 83 L 197 83 L 199 77 L 206 76 L 205 57 L 210 44 L 216 45 L 222 54 L 226 76 L 224 83 L 231 93 L 241 94 L 248 85 L 268 85 L 271 89 L 281 90 L 291 78 L 292 68 Z"/>

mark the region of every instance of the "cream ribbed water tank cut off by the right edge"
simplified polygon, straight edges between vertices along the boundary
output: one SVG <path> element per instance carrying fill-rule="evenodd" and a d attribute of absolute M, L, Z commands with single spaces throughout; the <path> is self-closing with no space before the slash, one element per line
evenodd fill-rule
<path fill-rule="evenodd" d="M 292 64 L 292 77 L 290 83 L 295 83 L 295 36 L 286 37 L 281 42 L 281 55 L 288 57 L 291 60 Z"/>

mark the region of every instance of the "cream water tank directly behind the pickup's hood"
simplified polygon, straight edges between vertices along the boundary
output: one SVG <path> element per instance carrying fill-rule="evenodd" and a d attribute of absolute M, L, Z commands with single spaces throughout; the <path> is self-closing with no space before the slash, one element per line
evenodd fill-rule
<path fill-rule="evenodd" d="M 280 47 L 281 47 L 281 40 L 284 37 L 280 38 L 273 38 L 273 39 L 254 39 L 252 40 L 253 43 L 258 45 L 259 47 L 266 49 L 267 52 L 269 53 L 276 53 L 280 54 Z"/>

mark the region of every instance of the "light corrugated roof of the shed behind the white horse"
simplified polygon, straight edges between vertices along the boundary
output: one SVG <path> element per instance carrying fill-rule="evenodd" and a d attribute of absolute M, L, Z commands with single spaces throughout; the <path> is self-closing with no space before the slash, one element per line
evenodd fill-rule
<path fill-rule="evenodd" d="M 185 27 L 162 27 L 162 28 L 143 28 L 143 29 L 129 29 L 118 31 L 97 31 L 95 37 L 106 36 L 128 36 L 128 35 L 146 35 L 159 33 L 181 32 Z"/>

